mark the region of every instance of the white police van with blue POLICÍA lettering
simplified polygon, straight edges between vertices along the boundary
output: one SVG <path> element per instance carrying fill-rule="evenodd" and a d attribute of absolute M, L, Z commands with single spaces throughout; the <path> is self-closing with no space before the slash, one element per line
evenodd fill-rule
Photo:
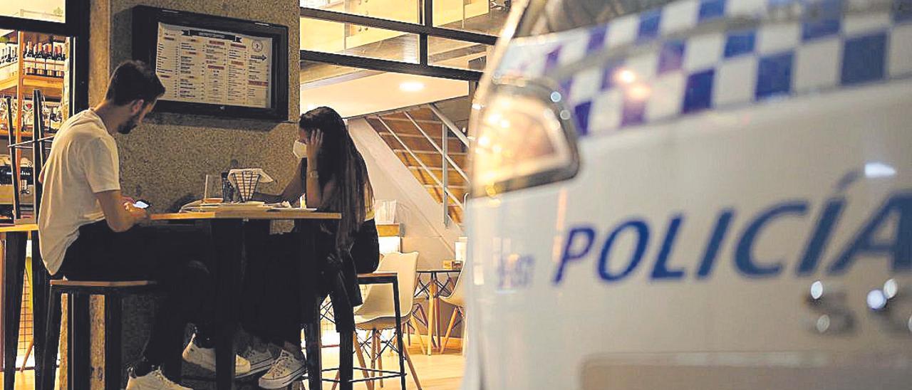
<path fill-rule="evenodd" d="M 912 389 L 912 2 L 514 3 L 470 129 L 464 389 Z"/>

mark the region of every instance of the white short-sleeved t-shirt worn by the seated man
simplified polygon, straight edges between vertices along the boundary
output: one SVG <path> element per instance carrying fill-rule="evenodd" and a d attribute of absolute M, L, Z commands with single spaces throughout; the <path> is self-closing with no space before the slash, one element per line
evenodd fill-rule
<path fill-rule="evenodd" d="M 67 119 L 44 168 L 44 193 L 38 213 L 41 258 L 52 275 L 60 269 L 79 227 L 105 219 L 95 194 L 120 190 L 117 143 L 94 111 Z"/>

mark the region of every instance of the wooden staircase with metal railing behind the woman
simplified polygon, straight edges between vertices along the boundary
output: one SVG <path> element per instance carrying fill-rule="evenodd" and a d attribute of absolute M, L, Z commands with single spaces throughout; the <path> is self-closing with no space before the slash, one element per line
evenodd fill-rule
<path fill-rule="evenodd" d="M 464 120 L 453 122 L 441 110 L 446 106 L 451 105 L 423 105 L 365 119 L 437 200 L 444 222 L 461 224 L 469 192 L 468 139 L 456 125 Z"/>

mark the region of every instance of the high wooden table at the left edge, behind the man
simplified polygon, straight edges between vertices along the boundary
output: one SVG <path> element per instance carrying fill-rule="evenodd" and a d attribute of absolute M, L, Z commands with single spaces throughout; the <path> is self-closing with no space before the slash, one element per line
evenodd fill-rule
<path fill-rule="evenodd" d="M 3 362 L 4 362 L 4 390 L 13 390 L 16 381 L 16 354 L 19 344 L 19 317 L 22 314 L 23 278 L 26 271 L 26 241 L 32 235 L 32 311 L 33 311 L 33 338 L 36 362 L 42 356 L 41 340 L 45 334 L 45 320 L 47 317 L 47 291 L 50 279 L 41 261 L 38 248 L 38 225 L 5 225 L 0 226 L 0 240 L 3 245 Z M 36 364 L 37 365 L 37 364 Z M 35 380 L 38 383 L 42 373 L 36 367 Z"/>

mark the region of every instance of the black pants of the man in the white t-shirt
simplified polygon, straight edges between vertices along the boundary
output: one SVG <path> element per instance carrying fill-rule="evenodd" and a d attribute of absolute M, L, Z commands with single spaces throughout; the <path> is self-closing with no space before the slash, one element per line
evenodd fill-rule
<path fill-rule="evenodd" d="M 187 323 L 196 324 L 197 337 L 212 334 L 212 281 L 203 263 L 209 242 L 207 234 L 190 226 L 137 226 L 118 233 L 98 221 L 79 228 L 54 277 L 159 282 L 165 296 L 142 353 L 159 365 L 180 356 Z"/>

